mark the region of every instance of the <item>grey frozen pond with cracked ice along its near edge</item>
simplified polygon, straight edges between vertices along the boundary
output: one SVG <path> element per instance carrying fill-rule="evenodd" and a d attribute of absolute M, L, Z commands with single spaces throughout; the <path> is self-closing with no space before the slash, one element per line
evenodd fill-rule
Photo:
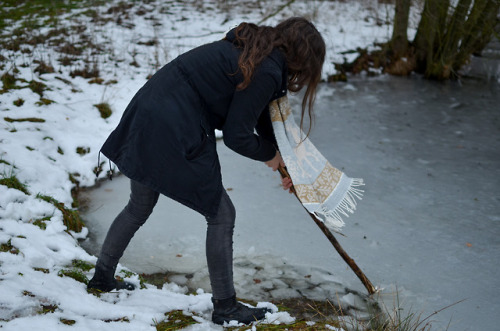
<path fill-rule="evenodd" d="M 448 330 L 498 327 L 499 104 L 498 83 L 417 77 L 355 78 L 322 86 L 318 95 L 311 140 L 334 166 L 367 184 L 358 211 L 346 220 L 346 237 L 337 239 L 383 289 L 388 309 L 396 289 L 404 310 L 423 318 L 465 299 L 433 316 L 433 330 L 448 323 Z M 218 147 L 237 210 L 240 297 L 300 293 L 335 300 L 340 293 L 345 303 L 345 288 L 366 293 L 296 199 L 279 187 L 277 173 L 222 142 Z M 82 246 L 91 253 L 126 204 L 128 186 L 118 177 L 85 193 L 90 237 Z M 160 198 L 121 264 L 207 288 L 204 238 L 203 217 Z"/>

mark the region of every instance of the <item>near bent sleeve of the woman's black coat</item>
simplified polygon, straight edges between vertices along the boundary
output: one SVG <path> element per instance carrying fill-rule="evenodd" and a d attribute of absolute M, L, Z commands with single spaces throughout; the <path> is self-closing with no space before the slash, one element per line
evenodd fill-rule
<path fill-rule="evenodd" d="M 277 70 L 260 69 L 246 89 L 234 93 L 222 131 L 224 143 L 236 153 L 269 161 L 276 155 L 276 148 L 272 141 L 254 131 L 263 110 L 268 109 L 269 101 L 280 88 L 282 75 Z"/>

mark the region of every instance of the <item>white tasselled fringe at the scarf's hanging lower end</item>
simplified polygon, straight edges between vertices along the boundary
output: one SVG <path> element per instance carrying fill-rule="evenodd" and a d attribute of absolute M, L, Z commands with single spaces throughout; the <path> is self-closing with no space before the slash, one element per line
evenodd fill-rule
<path fill-rule="evenodd" d="M 365 183 L 362 178 L 353 178 L 349 190 L 347 190 L 335 209 L 329 209 L 325 204 L 321 204 L 314 211 L 314 216 L 322 221 L 330 230 L 340 233 L 341 228 L 345 225 L 342 217 L 349 217 L 348 213 L 353 214 L 358 204 L 357 200 L 363 200 L 364 190 L 356 188 L 363 185 Z"/>

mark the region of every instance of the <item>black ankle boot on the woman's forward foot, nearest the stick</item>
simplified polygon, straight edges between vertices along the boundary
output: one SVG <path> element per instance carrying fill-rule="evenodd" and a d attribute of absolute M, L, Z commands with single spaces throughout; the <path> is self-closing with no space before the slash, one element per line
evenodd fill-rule
<path fill-rule="evenodd" d="M 224 324 L 224 322 L 238 321 L 238 323 L 250 324 L 266 317 L 267 308 L 250 308 L 236 301 L 236 295 L 229 299 L 217 300 L 212 298 L 214 312 L 212 322 Z"/>

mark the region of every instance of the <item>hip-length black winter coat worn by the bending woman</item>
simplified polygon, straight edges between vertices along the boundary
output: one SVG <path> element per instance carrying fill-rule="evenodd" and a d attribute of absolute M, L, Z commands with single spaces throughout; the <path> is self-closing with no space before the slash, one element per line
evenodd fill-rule
<path fill-rule="evenodd" d="M 127 177 L 207 217 L 217 214 L 222 177 L 214 129 L 235 152 L 259 161 L 276 153 L 268 104 L 286 94 L 287 70 L 275 49 L 252 82 L 238 71 L 230 31 L 160 69 L 133 97 L 101 152 Z M 254 130 L 258 135 L 254 134 Z"/>

